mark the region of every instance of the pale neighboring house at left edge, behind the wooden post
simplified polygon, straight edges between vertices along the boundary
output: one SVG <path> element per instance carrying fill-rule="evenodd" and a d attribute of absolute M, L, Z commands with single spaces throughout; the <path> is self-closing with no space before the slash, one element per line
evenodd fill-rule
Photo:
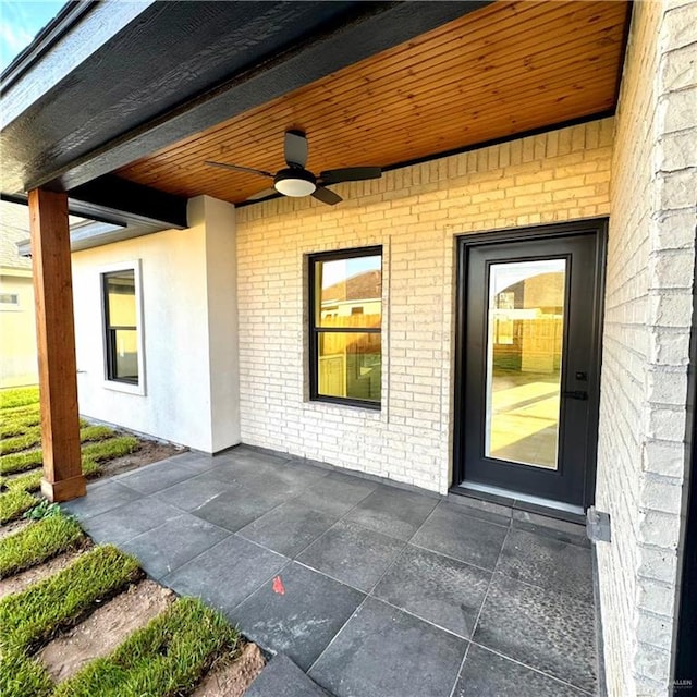
<path fill-rule="evenodd" d="M 0 388 L 38 382 L 32 260 L 17 250 L 28 229 L 26 206 L 0 204 Z"/>

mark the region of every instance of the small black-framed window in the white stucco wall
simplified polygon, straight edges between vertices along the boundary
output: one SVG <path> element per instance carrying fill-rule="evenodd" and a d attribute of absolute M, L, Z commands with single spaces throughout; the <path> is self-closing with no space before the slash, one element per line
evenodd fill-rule
<path fill-rule="evenodd" d="M 138 384 L 138 309 L 135 269 L 102 274 L 107 379 Z"/>

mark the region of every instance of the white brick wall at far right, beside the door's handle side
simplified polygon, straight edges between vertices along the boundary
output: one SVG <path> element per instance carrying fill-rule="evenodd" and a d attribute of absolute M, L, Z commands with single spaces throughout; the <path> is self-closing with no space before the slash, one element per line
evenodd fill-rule
<path fill-rule="evenodd" d="M 669 694 L 697 191 L 697 2 L 636 2 L 616 115 L 597 505 L 608 689 Z"/>

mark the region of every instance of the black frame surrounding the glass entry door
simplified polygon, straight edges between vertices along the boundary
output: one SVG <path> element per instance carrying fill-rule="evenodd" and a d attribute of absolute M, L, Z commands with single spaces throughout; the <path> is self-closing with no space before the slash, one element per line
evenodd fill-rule
<path fill-rule="evenodd" d="M 465 329 L 467 327 L 467 262 L 473 247 L 499 245 L 513 242 L 559 240 L 578 234 L 595 234 L 596 236 L 596 282 L 592 302 L 592 345 L 597 365 L 597 384 L 589 390 L 589 419 L 586 432 L 588 443 L 585 476 L 584 476 L 584 510 L 595 501 L 596 465 L 598 454 L 598 411 L 600 399 L 600 376 L 602 358 L 602 320 L 604 308 L 606 258 L 608 246 L 608 218 L 592 218 L 549 225 L 533 225 L 496 230 L 477 234 L 463 234 L 456 241 L 456 282 L 455 282 L 455 374 L 454 374 L 454 430 L 453 430 L 453 480 L 452 487 L 457 487 L 465 479 L 464 463 L 464 423 L 467 417 L 465 382 L 466 347 Z M 589 386 L 590 387 L 590 386 Z"/>

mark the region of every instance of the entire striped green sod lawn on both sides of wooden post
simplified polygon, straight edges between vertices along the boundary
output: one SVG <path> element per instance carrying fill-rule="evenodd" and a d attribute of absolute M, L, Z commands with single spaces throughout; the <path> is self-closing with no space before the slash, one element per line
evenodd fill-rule
<path fill-rule="evenodd" d="M 89 548 L 77 521 L 34 496 L 42 476 L 38 389 L 0 390 L 0 522 L 23 514 L 26 527 L 0 539 L 0 579 L 64 552 L 64 568 L 0 599 L 2 697 L 180 697 L 188 695 L 217 659 L 233 657 L 240 637 L 218 612 L 180 598 L 133 632 L 109 656 L 54 684 L 36 652 L 144 576 L 138 563 L 113 546 Z M 139 441 L 81 420 L 82 464 L 99 476 L 109 460 Z M 39 503 L 40 501 L 40 503 Z M 26 515 L 25 515 L 26 517 Z"/>

